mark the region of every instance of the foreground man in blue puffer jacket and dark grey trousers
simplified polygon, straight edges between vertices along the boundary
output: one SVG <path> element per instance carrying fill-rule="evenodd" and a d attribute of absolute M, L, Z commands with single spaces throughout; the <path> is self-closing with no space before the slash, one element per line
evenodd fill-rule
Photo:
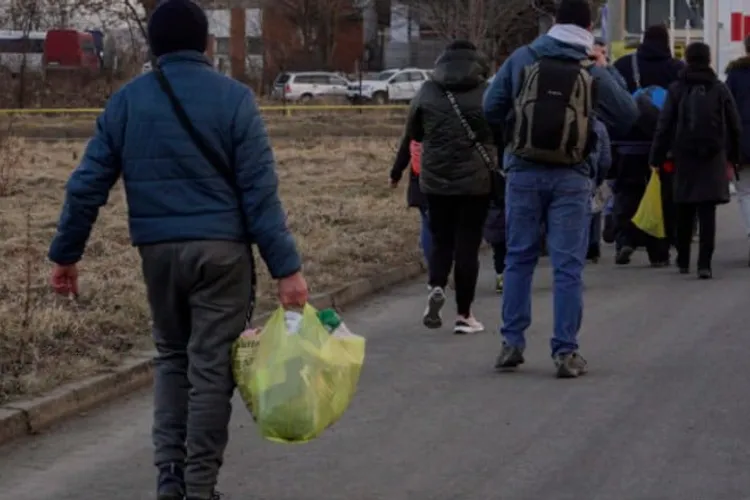
<path fill-rule="evenodd" d="M 233 170 L 238 189 L 201 154 L 148 73 L 113 95 L 98 118 L 68 181 L 49 251 L 53 287 L 77 293 L 76 264 L 122 177 L 158 352 L 153 441 L 160 500 L 216 495 L 234 390 L 231 348 L 252 294 L 248 243 L 279 280 L 283 306 L 307 300 L 253 94 L 214 71 L 203 55 L 207 37 L 206 16 L 189 0 L 163 2 L 149 21 L 159 66 L 194 126 Z"/>

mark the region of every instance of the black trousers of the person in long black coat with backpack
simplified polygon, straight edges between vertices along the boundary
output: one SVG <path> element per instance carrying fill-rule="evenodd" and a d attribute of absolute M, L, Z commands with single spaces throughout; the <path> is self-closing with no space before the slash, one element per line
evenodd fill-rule
<path fill-rule="evenodd" d="M 711 269 L 716 245 L 716 205 L 714 203 L 680 203 L 677 205 L 677 266 L 690 268 L 690 246 L 693 227 L 698 219 L 698 269 Z"/>

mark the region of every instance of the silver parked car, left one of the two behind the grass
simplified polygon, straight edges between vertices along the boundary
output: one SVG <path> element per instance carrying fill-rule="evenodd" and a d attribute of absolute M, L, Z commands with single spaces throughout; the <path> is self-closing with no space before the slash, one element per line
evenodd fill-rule
<path fill-rule="evenodd" d="M 346 97 L 349 81 L 336 73 L 305 71 L 281 73 L 273 83 L 271 97 L 307 102 L 315 97 Z"/>

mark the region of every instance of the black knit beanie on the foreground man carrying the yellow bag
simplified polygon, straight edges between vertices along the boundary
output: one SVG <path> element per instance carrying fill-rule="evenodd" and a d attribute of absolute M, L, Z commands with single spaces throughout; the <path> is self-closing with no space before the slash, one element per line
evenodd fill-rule
<path fill-rule="evenodd" d="M 154 57 L 181 50 L 203 53 L 208 44 L 208 19 L 190 0 L 166 0 L 151 14 L 148 39 Z"/>

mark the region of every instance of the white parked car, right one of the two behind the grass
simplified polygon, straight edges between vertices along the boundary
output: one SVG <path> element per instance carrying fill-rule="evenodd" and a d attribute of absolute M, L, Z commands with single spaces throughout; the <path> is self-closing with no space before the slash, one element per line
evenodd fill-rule
<path fill-rule="evenodd" d="M 432 70 L 419 68 L 389 69 L 378 73 L 371 80 L 352 82 L 346 91 L 351 102 L 388 102 L 411 101 L 424 82 L 432 77 Z"/>

